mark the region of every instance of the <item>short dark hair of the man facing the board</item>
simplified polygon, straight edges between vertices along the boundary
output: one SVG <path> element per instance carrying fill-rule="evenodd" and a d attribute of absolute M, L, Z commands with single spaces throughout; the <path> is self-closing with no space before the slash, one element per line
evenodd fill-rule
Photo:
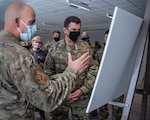
<path fill-rule="evenodd" d="M 68 27 L 69 27 L 69 24 L 70 24 L 71 22 L 74 22 L 74 23 L 76 23 L 76 24 L 79 24 L 79 23 L 81 23 L 81 20 L 80 20 L 78 17 L 76 17 L 76 16 L 69 16 L 69 17 L 67 17 L 67 18 L 65 19 L 65 21 L 64 21 L 64 27 L 68 28 Z"/>

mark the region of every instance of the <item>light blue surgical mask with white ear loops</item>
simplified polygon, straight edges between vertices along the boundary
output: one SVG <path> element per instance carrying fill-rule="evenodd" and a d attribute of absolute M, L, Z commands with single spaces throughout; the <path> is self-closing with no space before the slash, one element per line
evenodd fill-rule
<path fill-rule="evenodd" d="M 34 36 L 35 32 L 37 31 L 36 25 L 31 25 L 27 26 L 22 20 L 20 20 L 26 27 L 27 27 L 27 32 L 22 33 L 21 30 L 18 28 L 20 32 L 20 39 L 22 41 L 29 41 L 31 38 Z"/>

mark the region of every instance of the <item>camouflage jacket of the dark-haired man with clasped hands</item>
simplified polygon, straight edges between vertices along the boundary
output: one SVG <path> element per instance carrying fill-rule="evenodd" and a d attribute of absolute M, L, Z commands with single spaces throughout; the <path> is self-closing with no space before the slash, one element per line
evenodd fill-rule
<path fill-rule="evenodd" d="M 45 59 L 44 71 L 49 75 L 63 72 L 68 64 L 68 52 L 72 54 L 74 60 L 86 52 L 92 56 L 92 51 L 87 42 L 77 40 L 73 46 L 68 46 L 64 40 L 60 40 L 49 49 Z M 72 92 L 80 89 L 84 94 L 90 93 L 95 82 L 97 71 L 98 62 L 91 57 L 89 67 L 78 77 L 76 86 Z"/>

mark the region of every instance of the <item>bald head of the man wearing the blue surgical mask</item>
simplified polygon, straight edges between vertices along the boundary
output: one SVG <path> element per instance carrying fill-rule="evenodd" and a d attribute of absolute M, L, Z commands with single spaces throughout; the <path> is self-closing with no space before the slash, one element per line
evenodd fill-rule
<path fill-rule="evenodd" d="M 22 2 L 11 3 L 4 14 L 4 30 L 14 34 L 20 39 L 20 33 L 25 33 L 27 27 L 35 22 L 35 12 L 33 8 Z M 18 30 L 19 29 L 19 30 Z"/>

